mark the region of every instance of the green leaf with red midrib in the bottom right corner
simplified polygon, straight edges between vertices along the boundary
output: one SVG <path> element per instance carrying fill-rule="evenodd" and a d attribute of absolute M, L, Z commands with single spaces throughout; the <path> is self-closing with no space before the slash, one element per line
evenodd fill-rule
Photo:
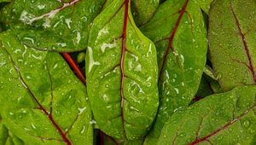
<path fill-rule="evenodd" d="M 256 87 L 207 96 L 172 115 L 158 144 L 253 144 Z"/>

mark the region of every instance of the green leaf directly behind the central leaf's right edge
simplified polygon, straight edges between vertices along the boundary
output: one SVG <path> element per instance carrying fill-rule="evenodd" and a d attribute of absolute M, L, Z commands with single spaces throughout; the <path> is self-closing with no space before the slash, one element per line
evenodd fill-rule
<path fill-rule="evenodd" d="M 204 24 L 194 1 L 170 0 L 141 27 L 157 48 L 160 90 L 160 109 L 145 144 L 155 144 L 167 119 L 195 96 L 207 58 Z"/>

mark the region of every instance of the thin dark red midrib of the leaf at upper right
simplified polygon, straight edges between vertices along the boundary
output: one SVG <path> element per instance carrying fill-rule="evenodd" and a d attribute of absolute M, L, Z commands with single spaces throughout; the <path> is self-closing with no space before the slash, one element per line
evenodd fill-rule
<path fill-rule="evenodd" d="M 238 18 L 236 17 L 235 11 L 234 11 L 231 3 L 230 3 L 230 8 L 231 8 L 232 14 L 233 14 L 233 16 L 234 16 L 234 18 L 236 20 L 236 26 L 238 28 L 239 35 L 241 36 L 242 44 L 243 44 L 244 49 L 245 49 L 246 54 L 247 54 L 247 59 L 249 61 L 248 69 L 250 70 L 250 72 L 253 75 L 254 83 L 256 83 L 256 76 L 255 76 L 255 72 L 254 72 L 254 68 L 253 68 L 253 61 L 252 61 L 252 57 L 250 55 L 250 50 L 249 50 L 248 45 L 247 45 L 245 34 L 241 32 L 241 25 L 239 23 Z"/>

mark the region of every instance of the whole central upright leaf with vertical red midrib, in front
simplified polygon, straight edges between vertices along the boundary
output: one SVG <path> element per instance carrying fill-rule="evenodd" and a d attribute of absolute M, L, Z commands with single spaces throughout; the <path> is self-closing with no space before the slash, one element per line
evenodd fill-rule
<path fill-rule="evenodd" d="M 144 136 L 157 112 L 154 44 L 138 30 L 129 0 L 96 17 L 86 53 L 88 95 L 96 125 L 115 138 Z"/>

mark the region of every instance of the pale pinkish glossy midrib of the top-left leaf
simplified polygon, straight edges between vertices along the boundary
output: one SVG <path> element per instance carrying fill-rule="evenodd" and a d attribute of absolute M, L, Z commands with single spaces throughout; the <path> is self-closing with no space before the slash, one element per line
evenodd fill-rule
<path fill-rule="evenodd" d="M 66 9 L 67 7 L 70 7 L 70 6 L 74 5 L 75 3 L 78 3 L 79 1 L 80 0 L 73 0 L 73 2 L 70 2 L 70 3 L 63 3 L 63 6 L 61 8 L 51 10 L 49 13 L 35 17 L 32 20 L 30 20 L 29 23 L 32 24 L 32 22 L 34 22 L 36 20 L 41 20 L 44 17 L 53 18 L 55 16 L 55 14 L 59 13 L 62 9 Z"/>

